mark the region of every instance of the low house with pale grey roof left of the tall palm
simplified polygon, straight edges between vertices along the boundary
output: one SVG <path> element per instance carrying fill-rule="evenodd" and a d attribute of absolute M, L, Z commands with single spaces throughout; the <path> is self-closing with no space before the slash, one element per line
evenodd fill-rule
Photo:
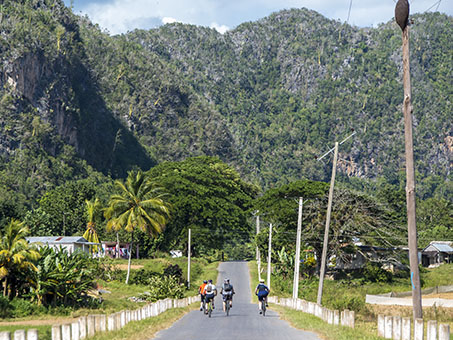
<path fill-rule="evenodd" d="M 32 236 L 25 238 L 28 243 L 36 244 L 39 247 L 49 246 L 55 250 L 65 249 L 69 254 L 75 251 L 90 252 L 90 246 L 99 243 L 88 242 L 82 236 Z"/>

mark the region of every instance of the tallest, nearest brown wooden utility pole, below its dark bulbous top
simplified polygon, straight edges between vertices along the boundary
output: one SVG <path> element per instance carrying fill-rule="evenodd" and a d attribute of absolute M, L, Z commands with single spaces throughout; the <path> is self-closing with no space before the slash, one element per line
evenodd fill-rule
<path fill-rule="evenodd" d="M 411 78 L 409 66 L 409 26 L 403 30 L 403 86 L 404 86 L 404 140 L 406 148 L 406 205 L 407 230 L 409 244 L 409 263 L 412 282 L 412 305 L 414 319 L 422 318 L 422 297 L 420 287 L 420 273 L 418 270 L 417 225 L 415 210 L 415 171 L 414 149 L 412 138 L 412 104 Z"/>

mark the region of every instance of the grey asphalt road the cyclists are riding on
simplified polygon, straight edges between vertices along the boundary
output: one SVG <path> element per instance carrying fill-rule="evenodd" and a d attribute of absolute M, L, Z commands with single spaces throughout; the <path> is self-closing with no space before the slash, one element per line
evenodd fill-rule
<path fill-rule="evenodd" d="M 233 308 L 231 308 L 228 317 L 222 311 L 222 299 L 219 294 L 215 299 L 216 308 L 212 312 L 211 318 L 203 315 L 199 310 L 192 311 L 175 322 L 170 328 L 157 333 L 155 339 L 320 340 L 314 333 L 291 327 L 272 310 L 267 310 L 265 317 L 259 314 L 258 304 L 251 302 L 247 262 L 223 262 L 220 264 L 216 285 L 219 292 L 224 278 L 230 279 L 236 291 Z"/>

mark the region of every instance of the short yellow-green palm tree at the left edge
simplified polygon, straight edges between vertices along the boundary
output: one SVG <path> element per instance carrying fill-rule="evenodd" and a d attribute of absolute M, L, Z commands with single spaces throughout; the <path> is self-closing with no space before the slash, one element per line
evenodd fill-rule
<path fill-rule="evenodd" d="M 5 297 L 8 293 L 8 279 L 14 270 L 38 270 L 32 261 L 39 259 L 40 254 L 25 240 L 27 234 L 28 228 L 14 219 L 0 234 L 0 281 L 4 280 L 3 296 Z"/>

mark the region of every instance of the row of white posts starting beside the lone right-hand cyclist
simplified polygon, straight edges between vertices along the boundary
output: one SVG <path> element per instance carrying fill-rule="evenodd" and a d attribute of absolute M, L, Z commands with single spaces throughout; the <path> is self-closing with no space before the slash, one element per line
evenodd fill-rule
<path fill-rule="evenodd" d="M 354 328 L 355 325 L 355 313 L 348 309 L 340 313 L 338 310 L 330 310 L 314 302 L 302 299 L 278 298 L 277 296 L 268 297 L 268 302 L 315 315 L 331 325 L 342 325 L 351 328 Z"/>

